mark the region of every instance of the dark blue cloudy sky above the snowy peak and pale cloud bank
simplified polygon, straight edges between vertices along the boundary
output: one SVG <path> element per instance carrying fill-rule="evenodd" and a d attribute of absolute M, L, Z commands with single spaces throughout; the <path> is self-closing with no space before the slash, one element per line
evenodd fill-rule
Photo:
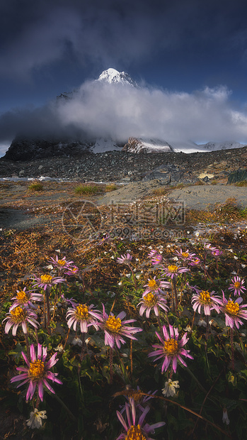
<path fill-rule="evenodd" d="M 247 111 L 246 0 L 1 0 L 0 41 L 0 142 L 6 112 L 108 67 L 166 93 L 223 86 Z"/>

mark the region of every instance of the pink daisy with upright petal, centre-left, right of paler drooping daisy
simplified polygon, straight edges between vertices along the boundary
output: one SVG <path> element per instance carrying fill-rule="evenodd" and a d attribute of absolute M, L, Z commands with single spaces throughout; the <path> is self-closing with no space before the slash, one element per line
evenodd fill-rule
<path fill-rule="evenodd" d="M 110 312 L 108 315 L 105 313 L 104 304 L 102 305 L 103 315 L 100 318 L 101 322 L 98 322 L 98 326 L 105 332 L 105 345 L 113 348 L 114 344 L 116 343 L 117 348 L 120 348 L 120 343 L 125 343 L 123 336 L 137 341 L 137 338 L 133 336 L 133 334 L 142 331 L 142 329 L 139 327 L 130 327 L 126 325 L 130 324 L 130 322 L 135 322 L 136 320 L 127 319 L 122 321 L 122 319 L 126 316 L 125 312 L 120 312 L 117 317 L 115 317 L 115 314 L 112 312 Z"/>

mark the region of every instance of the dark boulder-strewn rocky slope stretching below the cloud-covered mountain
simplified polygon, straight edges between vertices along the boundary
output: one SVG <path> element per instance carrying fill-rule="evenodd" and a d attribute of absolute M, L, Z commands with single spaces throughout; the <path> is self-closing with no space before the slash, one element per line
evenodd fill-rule
<path fill-rule="evenodd" d="M 170 175 L 166 165 L 171 168 Z M 162 179 L 163 176 L 164 183 L 173 185 L 174 182 L 184 182 L 184 180 L 195 182 L 198 176 L 209 182 L 219 180 L 227 177 L 231 171 L 246 167 L 247 146 L 190 154 L 108 151 L 75 154 L 69 158 L 67 156 L 41 158 L 28 162 L 14 162 L 0 158 L 0 178 L 47 176 L 81 182 L 132 182 L 144 178 L 145 180 Z M 160 174 L 157 175 L 157 172 Z M 175 174 L 178 177 L 174 177 Z"/>

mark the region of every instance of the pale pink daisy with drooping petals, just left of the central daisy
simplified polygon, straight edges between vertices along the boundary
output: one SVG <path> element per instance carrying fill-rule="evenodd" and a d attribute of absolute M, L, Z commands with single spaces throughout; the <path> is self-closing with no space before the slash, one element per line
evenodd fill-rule
<path fill-rule="evenodd" d="M 98 310 L 92 310 L 93 307 L 93 304 L 89 307 L 86 304 L 78 304 L 76 307 L 68 309 L 66 319 L 69 318 L 67 321 L 69 329 L 73 326 L 74 331 L 76 331 L 76 326 L 79 324 L 81 333 L 87 333 L 90 326 L 94 326 L 98 330 L 96 319 L 100 319 L 101 315 Z"/>

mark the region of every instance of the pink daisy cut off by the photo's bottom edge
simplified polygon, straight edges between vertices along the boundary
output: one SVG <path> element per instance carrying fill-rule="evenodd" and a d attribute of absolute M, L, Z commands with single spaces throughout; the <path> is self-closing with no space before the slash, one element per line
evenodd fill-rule
<path fill-rule="evenodd" d="M 122 414 L 117 411 L 117 417 L 119 421 L 122 423 L 122 426 L 125 428 L 126 433 L 120 434 L 120 436 L 117 437 L 117 440 L 152 440 L 151 437 L 149 437 L 149 433 L 154 434 L 154 430 L 156 428 L 163 427 L 166 423 L 165 422 L 158 422 L 155 424 L 144 424 L 144 419 L 149 412 L 149 407 L 146 407 L 144 411 L 142 412 L 141 416 L 138 419 L 136 417 L 136 410 L 134 407 L 134 400 L 131 402 L 131 415 L 130 417 L 130 409 L 127 404 L 125 404 L 126 408 L 126 415 L 127 415 L 127 422 L 125 422 L 125 419 L 122 417 Z"/>

